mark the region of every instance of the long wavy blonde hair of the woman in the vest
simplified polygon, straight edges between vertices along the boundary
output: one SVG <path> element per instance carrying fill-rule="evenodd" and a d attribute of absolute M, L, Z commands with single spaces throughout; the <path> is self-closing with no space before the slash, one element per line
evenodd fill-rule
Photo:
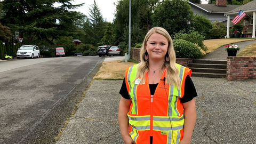
<path fill-rule="evenodd" d="M 154 34 L 161 34 L 163 35 L 167 41 L 168 41 L 168 50 L 167 50 L 167 55 L 170 59 L 169 62 L 167 62 L 166 60 L 164 61 L 162 67 L 161 67 L 161 73 L 163 73 L 163 69 L 167 69 L 167 73 L 166 73 L 166 84 L 169 85 L 175 85 L 178 87 L 178 89 L 180 88 L 180 78 L 179 78 L 179 69 L 176 67 L 175 62 L 176 62 L 176 56 L 175 56 L 175 51 L 174 51 L 174 47 L 173 47 L 173 43 L 172 43 L 172 38 L 169 35 L 169 33 L 161 27 L 154 27 L 151 28 L 147 35 L 145 36 L 145 39 L 143 41 L 141 50 L 140 50 L 140 63 L 138 64 L 138 68 L 137 68 L 137 74 L 135 79 L 140 78 L 140 84 L 145 83 L 145 74 L 147 73 L 147 71 L 149 71 L 149 62 L 144 61 L 144 55 L 146 53 L 146 43 L 149 39 L 149 37 Z"/>

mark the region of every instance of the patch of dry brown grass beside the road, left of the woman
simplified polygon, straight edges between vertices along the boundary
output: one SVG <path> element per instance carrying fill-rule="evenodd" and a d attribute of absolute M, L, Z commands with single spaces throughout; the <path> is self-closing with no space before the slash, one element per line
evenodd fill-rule
<path fill-rule="evenodd" d="M 124 79 L 126 67 L 134 65 L 135 62 L 124 62 L 123 60 L 104 61 L 98 73 L 94 76 L 95 80 L 118 80 Z"/>

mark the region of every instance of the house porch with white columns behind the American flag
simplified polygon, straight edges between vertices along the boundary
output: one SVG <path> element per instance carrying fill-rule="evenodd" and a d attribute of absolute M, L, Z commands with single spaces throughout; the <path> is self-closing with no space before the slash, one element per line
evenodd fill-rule
<path fill-rule="evenodd" d="M 234 17 L 237 13 L 242 10 L 246 13 L 244 20 L 243 34 L 245 37 L 255 38 L 255 25 L 256 25 L 256 0 L 251 1 L 247 4 L 241 5 L 236 9 L 230 10 L 225 15 L 227 20 Z M 229 23 L 228 23 L 229 24 Z M 229 26 L 227 27 L 227 38 L 229 38 Z"/>

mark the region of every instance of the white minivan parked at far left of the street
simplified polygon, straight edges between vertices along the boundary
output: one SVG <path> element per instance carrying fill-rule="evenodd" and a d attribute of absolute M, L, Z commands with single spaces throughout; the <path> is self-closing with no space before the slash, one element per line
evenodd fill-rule
<path fill-rule="evenodd" d="M 23 58 L 31 58 L 40 57 L 39 47 L 36 45 L 22 45 L 20 49 L 17 51 L 17 59 L 20 57 Z"/>

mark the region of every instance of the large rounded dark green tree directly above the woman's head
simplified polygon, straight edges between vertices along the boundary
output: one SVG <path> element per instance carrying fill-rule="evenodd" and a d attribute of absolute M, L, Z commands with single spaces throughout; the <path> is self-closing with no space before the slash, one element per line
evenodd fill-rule
<path fill-rule="evenodd" d="M 153 26 L 163 27 L 169 34 L 174 34 L 187 29 L 187 21 L 193 22 L 194 14 L 187 1 L 169 0 L 156 7 L 152 20 Z"/>

